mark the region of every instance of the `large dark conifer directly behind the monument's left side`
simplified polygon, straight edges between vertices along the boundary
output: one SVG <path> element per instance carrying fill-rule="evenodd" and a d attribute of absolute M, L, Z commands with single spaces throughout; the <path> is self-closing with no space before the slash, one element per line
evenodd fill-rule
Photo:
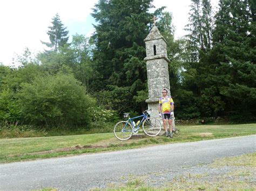
<path fill-rule="evenodd" d="M 138 92 L 146 91 L 145 43 L 143 39 L 149 33 L 152 14 L 152 0 L 100 0 L 93 9 L 92 16 L 98 22 L 95 25 L 96 48 L 93 50 L 93 63 L 99 73 L 95 80 L 95 90 L 108 90 L 116 100 L 116 90 L 123 88 L 120 94 L 130 95 L 129 100 L 118 102 L 115 107 L 138 110 L 145 108 L 145 102 L 134 104 Z M 123 111 L 120 111 L 123 112 Z"/>

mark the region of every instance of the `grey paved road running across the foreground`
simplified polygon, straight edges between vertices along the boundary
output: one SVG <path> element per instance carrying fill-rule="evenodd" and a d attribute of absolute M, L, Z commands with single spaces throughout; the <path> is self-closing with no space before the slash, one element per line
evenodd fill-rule
<path fill-rule="evenodd" d="M 256 152 L 256 135 L 84 154 L 74 157 L 0 165 L 0 190 L 104 188 L 122 176 L 179 171 L 181 166 L 209 164 L 213 159 Z"/>

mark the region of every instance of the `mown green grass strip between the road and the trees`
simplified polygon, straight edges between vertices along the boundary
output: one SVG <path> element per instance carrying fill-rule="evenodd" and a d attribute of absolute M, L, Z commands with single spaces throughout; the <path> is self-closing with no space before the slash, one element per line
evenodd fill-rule
<path fill-rule="evenodd" d="M 0 162 L 35 160 L 64 155 L 125 150 L 146 145 L 193 142 L 198 140 L 256 134 L 256 124 L 178 126 L 173 139 L 165 136 L 132 136 L 120 142 L 113 133 L 90 135 L 0 139 Z"/>

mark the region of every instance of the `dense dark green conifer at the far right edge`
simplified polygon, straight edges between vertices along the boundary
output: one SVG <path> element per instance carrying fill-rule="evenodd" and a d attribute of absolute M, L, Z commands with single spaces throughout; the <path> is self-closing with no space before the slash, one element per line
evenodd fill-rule
<path fill-rule="evenodd" d="M 250 0 L 221 0 L 219 5 L 208 66 L 211 84 L 225 103 L 225 115 L 255 120 L 255 4 Z"/>

